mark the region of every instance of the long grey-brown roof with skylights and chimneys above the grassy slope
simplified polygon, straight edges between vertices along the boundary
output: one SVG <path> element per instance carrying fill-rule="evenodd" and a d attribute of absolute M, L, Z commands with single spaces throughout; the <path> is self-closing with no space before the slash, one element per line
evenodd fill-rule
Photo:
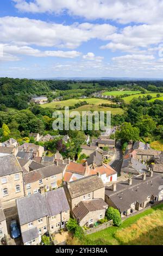
<path fill-rule="evenodd" d="M 162 175 L 153 174 L 153 177 L 146 176 L 146 180 L 142 180 L 141 176 L 134 176 L 133 184 L 128 185 L 128 181 L 121 181 L 116 184 L 116 191 L 112 191 L 111 187 L 105 187 L 105 196 L 116 205 L 120 212 L 130 209 L 130 205 L 139 202 L 145 202 L 148 196 L 158 196 L 160 186 L 163 185 Z"/>

